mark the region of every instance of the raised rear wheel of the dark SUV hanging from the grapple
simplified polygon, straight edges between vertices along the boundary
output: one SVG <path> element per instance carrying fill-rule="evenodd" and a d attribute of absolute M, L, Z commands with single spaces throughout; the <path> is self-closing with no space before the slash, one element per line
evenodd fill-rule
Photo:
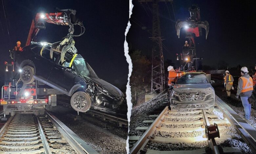
<path fill-rule="evenodd" d="M 31 66 L 24 66 L 22 67 L 22 72 L 20 73 L 20 79 L 25 84 L 31 84 L 35 79 L 34 75 L 34 68 Z"/>

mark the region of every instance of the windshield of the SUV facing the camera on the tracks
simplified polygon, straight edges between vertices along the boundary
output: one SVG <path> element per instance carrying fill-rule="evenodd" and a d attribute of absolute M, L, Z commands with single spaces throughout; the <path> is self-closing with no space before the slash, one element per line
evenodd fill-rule
<path fill-rule="evenodd" d="M 207 78 L 204 74 L 185 74 L 181 76 L 177 84 L 208 84 Z"/>

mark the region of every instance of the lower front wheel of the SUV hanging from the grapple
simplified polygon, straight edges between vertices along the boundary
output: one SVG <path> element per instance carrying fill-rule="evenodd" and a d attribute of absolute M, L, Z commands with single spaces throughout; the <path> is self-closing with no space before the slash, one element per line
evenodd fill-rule
<path fill-rule="evenodd" d="M 92 101 L 87 93 L 78 91 L 72 95 L 70 104 L 74 110 L 78 112 L 86 112 L 90 109 Z"/>

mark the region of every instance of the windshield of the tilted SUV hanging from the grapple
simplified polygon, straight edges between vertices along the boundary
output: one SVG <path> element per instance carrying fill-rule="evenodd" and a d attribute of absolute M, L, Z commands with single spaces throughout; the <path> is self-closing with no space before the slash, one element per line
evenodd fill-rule
<path fill-rule="evenodd" d="M 85 62 L 84 58 L 78 54 L 74 61 L 73 66 L 75 67 L 76 73 L 90 78 L 98 78 L 92 67 Z"/>

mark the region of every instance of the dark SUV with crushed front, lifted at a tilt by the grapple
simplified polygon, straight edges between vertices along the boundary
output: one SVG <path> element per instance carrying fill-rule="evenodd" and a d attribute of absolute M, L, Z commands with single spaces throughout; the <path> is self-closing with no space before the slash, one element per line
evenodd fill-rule
<path fill-rule="evenodd" d="M 50 53 L 51 46 L 49 43 L 32 42 L 22 52 L 16 52 L 15 62 L 21 69 L 23 83 L 29 84 L 36 79 L 72 96 L 71 106 L 79 112 L 90 108 L 105 111 L 118 109 L 124 94 L 117 87 L 98 78 L 80 54 L 67 51 L 61 57 L 59 52 Z"/>

